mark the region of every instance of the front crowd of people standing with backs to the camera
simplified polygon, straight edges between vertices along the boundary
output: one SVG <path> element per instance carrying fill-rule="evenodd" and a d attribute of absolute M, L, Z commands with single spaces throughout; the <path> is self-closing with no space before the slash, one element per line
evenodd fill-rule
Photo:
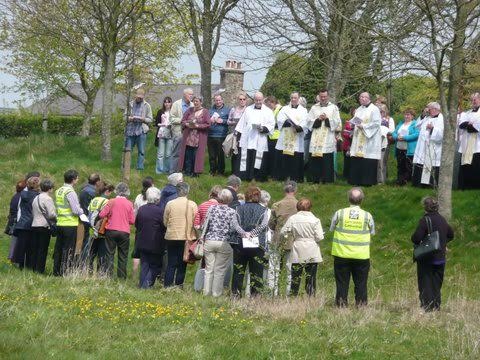
<path fill-rule="evenodd" d="M 303 274 L 306 294 L 315 295 L 324 231 L 312 201 L 297 199 L 293 180 L 285 182 L 284 197 L 271 207 L 265 189 L 250 184 L 239 193 L 241 179 L 236 175 L 228 177 L 225 186 L 214 186 L 199 205 L 189 198 L 182 173 L 170 174 L 161 190 L 146 177 L 133 203 L 123 182 L 113 186 L 91 174 L 77 195 L 78 181 L 78 172 L 68 170 L 55 192 L 53 182 L 39 172 L 16 184 L 6 233 L 11 235 L 9 259 L 19 269 L 44 273 L 54 236 L 53 275 L 86 271 L 113 277 L 117 253 L 117 277 L 125 279 L 134 226 L 131 256 L 140 288 L 151 288 L 156 281 L 166 288 L 183 288 L 187 264 L 197 262 L 194 287 L 206 296 L 222 296 L 226 288 L 234 298 L 245 291 L 249 296 L 277 296 L 280 290 L 297 296 Z M 348 305 L 350 278 L 356 305 L 367 304 L 375 224 L 372 214 L 361 208 L 363 198 L 361 188 L 349 190 L 349 206 L 336 211 L 330 224 L 339 307 Z M 453 239 L 453 230 L 438 214 L 435 199 L 423 203 L 425 216 L 412 242 L 421 243 L 432 231 L 440 234 L 441 247 L 434 256 L 417 261 L 421 305 L 435 310 L 441 304 L 446 243 Z"/>

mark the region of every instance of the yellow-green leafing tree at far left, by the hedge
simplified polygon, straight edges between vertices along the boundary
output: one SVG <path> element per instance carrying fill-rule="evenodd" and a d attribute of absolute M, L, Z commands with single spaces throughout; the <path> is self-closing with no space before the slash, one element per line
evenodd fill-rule
<path fill-rule="evenodd" d="M 82 35 L 84 17 L 67 0 L 2 0 L 0 4 L 5 32 L 0 46 L 11 53 L 4 70 L 16 76 L 20 89 L 30 94 L 67 95 L 81 103 L 81 135 L 88 136 L 104 72 L 95 45 Z M 77 82 L 85 96 L 71 90 Z"/>

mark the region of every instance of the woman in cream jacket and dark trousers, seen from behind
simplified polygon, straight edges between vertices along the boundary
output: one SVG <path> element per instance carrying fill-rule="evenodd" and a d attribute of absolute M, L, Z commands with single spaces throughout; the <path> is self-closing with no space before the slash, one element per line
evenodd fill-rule
<path fill-rule="evenodd" d="M 315 295 L 318 264 L 322 262 L 322 254 L 318 242 L 323 240 L 323 229 L 320 219 L 310 210 L 312 202 L 309 199 L 300 199 L 297 203 L 298 212 L 290 216 L 280 231 L 281 236 L 291 237 L 293 240 L 290 252 L 292 264 L 293 296 L 298 295 L 302 273 L 305 271 L 305 292 L 309 296 Z"/>

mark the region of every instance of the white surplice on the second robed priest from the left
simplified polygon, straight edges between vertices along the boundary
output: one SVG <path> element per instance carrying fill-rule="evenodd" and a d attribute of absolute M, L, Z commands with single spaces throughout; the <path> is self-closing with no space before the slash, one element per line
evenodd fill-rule
<path fill-rule="evenodd" d="M 277 126 L 280 129 L 280 137 L 278 138 L 277 144 L 275 145 L 275 149 L 277 150 L 285 150 L 285 137 L 289 136 L 288 132 L 295 136 L 295 152 L 303 153 L 304 152 L 304 137 L 307 128 L 307 117 L 308 112 L 302 105 L 298 105 L 298 107 L 292 108 L 292 106 L 286 105 L 282 107 L 277 115 Z M 303 132 L 297 132 L 295 128 L 292 127 L 283 127 L 285 121 L 290 119 L 295 125 L 301 126 L 303 128 Z"/>

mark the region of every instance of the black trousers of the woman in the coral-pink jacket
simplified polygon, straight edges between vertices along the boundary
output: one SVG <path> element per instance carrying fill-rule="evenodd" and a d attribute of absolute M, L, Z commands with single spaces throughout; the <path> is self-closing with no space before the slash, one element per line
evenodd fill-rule
<path fill-rule="evenodd" d="M 128 247 L 130 246 L 130 234 L 123 231 L 105 231 L 106 259 L 102 271 L 113 276 L 113 259 L 115 250 L 118 248 L 117 276 L 127 278 Z"/>

